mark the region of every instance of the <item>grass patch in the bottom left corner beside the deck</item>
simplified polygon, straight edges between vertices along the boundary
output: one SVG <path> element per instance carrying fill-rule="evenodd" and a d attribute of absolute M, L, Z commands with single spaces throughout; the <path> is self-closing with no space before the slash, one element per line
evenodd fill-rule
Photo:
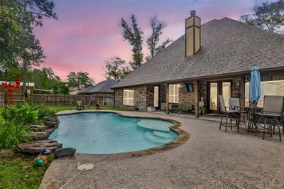
<path fill-rule="evenodd" d="M 35 156 L 16 153 L 11 157 L 0 157 L 0 188 L 39 188 L 45 171 L 48 169 L 53 155 L 43 167 L 34 168 Z"/>

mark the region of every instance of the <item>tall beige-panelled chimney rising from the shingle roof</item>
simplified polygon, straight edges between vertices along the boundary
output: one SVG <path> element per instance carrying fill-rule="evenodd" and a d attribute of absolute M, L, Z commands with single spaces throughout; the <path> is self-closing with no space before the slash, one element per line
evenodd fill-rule
<path fill-rule="evenodd" d="M 201 46 L 200 17 L 196 11 L 190 11 L 190 17 L 185 19 L 185 57 L 196 55 Z"/>

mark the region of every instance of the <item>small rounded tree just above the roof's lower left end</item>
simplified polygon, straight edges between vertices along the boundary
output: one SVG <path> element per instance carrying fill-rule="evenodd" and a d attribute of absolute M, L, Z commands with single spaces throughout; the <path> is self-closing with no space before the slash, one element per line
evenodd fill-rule
<path fill-rule="evenodd" d="M 107 80 L 121 80 L 131 72 L 129 67 L 125 65 L 125 60 L 122 60 L 119 57 L 113 57 L 110 60 L 107 60 L 104 66 L 104 77 L 106 77 Z"/>

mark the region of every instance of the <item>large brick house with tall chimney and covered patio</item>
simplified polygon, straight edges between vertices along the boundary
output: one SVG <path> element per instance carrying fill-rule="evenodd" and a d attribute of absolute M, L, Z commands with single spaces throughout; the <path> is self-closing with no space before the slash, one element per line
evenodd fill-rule
<path fill-rule="evenodd" d="M 203 101 L 204 113 L 218 114 L 218 95 L 226 106 L 230 97 L 248 105 L 253 65 L 260 68 L 263 95 L 284 95 L 283 35 L 231 18 L 200 25 L 195 11 L 190 14 L 185 35 L 112 87 L 115 107 L 146 111 Z"/>

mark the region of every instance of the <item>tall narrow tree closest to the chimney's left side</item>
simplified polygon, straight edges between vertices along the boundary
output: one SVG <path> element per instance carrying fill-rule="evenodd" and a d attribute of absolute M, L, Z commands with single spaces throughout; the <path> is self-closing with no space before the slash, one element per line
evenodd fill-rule
<path fill-rule="evenodd" d="M 156 53 L 160 52 L 160 50 L 163 50 L 163 48 L 165 48 L 165 45 L 170 43 L 170 39 L 168 38 L 165 42 L 163 42 L 162 45 L 158 46 L 157 48 L 156 46 L 160 41 L 160 35 L 163 33 L 163 28 L 165 28 L 165 23 L 158 21 L 157 16 L 155 16 L 151 18 L 150 24 L 151 24 L 152 34 L 147 39 L 147 45 L 150 55 L 148 55 L 146 60 L 150 60 L 151 58 L 153 58 L 153 56 Z"/>

